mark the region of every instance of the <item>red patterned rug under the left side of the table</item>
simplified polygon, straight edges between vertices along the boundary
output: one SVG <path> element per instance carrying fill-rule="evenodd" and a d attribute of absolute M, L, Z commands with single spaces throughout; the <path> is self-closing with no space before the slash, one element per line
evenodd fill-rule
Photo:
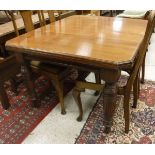
<path fill-rule="evenodd" d="M 64 94 L 73 88 L 75 78 L 77 78 L 77 72 L 74 72 L 64 83 Z M 35 88 L 38 94 L 42 94 L 49 88 L 49 79 L 43 76 L 39 77 L 35 81 Z M 15 96 L 8 87 L 7 93 L 11 107 L 8 110 L 3 110 L 0 104 L 1 144 L 21 143 L 59 102 L 54 88 L 50 89 L 50 92 L 41 99 L 39 108 L 32 107 L 31 99 L 23 83 L 19 85 L 18 92 L 20 92 L 18 96 Z"/>

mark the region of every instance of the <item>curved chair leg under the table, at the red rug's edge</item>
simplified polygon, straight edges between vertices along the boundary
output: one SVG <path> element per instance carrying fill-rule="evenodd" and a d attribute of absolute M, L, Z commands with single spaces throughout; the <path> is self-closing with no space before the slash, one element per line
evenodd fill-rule
<path fill-rule="evenodd" d="M 66 114 L 66 110 L 65 110 L 65 106 L 64 106 L 64 96 L 63 96 L 63 85 L 62 82 L 60 82 L 59 80 L 53 80 L 52 81 L 58 97 L 59 97 L 59 101 L 60 101 L 60 105 L 61 105 L 61 114 L 64 115 Z"/>

